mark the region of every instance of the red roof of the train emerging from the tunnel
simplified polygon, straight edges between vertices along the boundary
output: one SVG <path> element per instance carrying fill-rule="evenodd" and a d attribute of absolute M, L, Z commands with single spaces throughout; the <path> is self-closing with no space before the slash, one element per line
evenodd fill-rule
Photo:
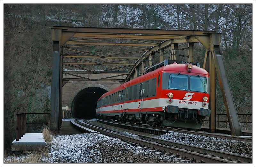
<path fill-rule="evenodd" d="M 142 80 L 143 78 L 147 78 L 147 77 L 150 77 L 150 76 L 153 76 L 153 75 L 156 75 L 158 73 L 161 73 L 161 72 L 173 72 L 173 73 L 178 73 L 180 72 L 181 74 L 189 74 L 189 75 L 201 75 L 201 76 L 209 76 L 209 73 L 205 70 L 205 69 L 202 69 L 200 67 L 197 67 L 196 65 L 193 65 L 192 69 L 191 69 L 191 72 L 188 72 L 188 67 L 187 67 L 187 64 L 169 64 L 169 65 L 165 65 L 163 67 L 160 67 L 154 71 L 151 71 L 151 72 L 148 72 L 142 76 L 139 76 L 137 78 L 134 78 L 106 93 L 104 93 L 103 95 L 104 96 L 108 96 L 120 89 L 124 89 L 125 88 L 125 85 L 126 84 L 130 84 L 130 83 L 134 83 L 134 82 L 138 82 L 140 80 Z M 103 96 L 102 95 L 102 96 Z M 101 97 L 102 97 L 101 96 Z M 101 97 L 99 98 L 99 100 L 101 99 Z"/>

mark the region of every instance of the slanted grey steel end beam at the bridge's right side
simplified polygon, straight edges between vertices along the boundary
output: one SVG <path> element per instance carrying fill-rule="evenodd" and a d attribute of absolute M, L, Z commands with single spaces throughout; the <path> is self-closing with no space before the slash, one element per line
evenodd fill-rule
<path fill-rule="evenodd" d="M 213 54 L 214 63 L 217 70 L 218 79 L 220 82 L 220 90 L 222 93 L 225 109 L 227 112 L 229 127 L 231 135 L 242 136 L 242 129 L 239 123 L 239 118 L 236 111 L 236 105 L 231 92 L 230 84 L 228 82 L 228 76 L 226 73 L 223 57 L 220 54 L 219 46 L 215 46 Z"/>

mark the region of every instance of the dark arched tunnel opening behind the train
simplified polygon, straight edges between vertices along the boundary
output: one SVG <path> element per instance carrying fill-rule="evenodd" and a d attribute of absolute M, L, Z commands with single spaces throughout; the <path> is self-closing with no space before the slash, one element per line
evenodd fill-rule
<path fill-rule="evenodd" d="M 105 89 L 89 87 L 78 92 L 71 104 L 72 117 L 80 119 L 95 118 L 97 100 L 106 93 Z"/>

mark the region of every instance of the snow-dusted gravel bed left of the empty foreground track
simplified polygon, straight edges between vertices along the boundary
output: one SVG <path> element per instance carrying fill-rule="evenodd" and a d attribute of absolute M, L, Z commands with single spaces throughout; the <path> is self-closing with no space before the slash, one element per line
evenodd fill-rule
<path fill-rule="evenodd" d="M 183 163 L 102 134 L 54 136 L 51 163 Z"/>

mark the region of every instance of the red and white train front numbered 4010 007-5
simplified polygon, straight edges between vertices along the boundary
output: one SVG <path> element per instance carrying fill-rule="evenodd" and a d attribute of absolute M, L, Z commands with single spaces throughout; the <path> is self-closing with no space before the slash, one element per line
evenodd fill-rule
<path fill-rule="evenodd" d="M 162 101 L 164 126 L 200 129 L 209 117 L 209 73 L 191 63 L 172 64 L 163 73 Z M 176 72 L 175 72 L 176 71 Z"/>

